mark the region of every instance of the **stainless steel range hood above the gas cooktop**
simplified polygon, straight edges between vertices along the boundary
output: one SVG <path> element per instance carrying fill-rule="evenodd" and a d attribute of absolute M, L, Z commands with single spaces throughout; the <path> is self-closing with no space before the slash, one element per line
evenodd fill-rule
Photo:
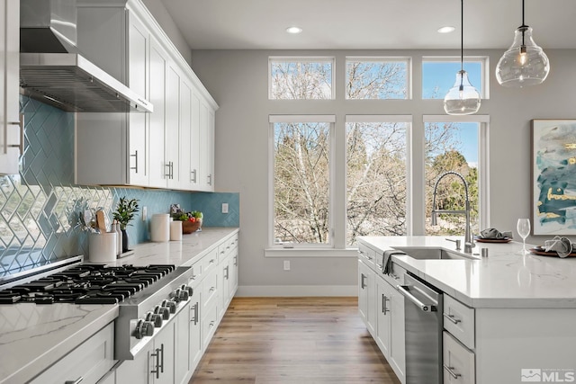
<path fill-rule="evenodd" d="M 21 0 L 20 25 L 23 94 L 68 112 L 153 112 L 77 49 L 76 0 Z"/>

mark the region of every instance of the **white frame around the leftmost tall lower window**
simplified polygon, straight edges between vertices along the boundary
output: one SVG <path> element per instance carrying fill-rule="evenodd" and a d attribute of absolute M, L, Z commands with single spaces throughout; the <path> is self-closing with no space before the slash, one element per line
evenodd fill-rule
<path fill-rule="evenodd" d="M 275 244 L 275 123 L 321 122 L 329 123 L 329 242 L 328 244 L 286 243 Z M 271 114 L 268 116 L 268 248 L 270 249 L 335 249 L 336 186 L 336 115 L 329 114 Z"/>

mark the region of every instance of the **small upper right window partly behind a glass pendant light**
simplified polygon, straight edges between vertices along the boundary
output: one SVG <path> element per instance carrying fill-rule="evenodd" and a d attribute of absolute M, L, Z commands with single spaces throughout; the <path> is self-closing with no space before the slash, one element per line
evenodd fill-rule
<path fill-rule="evenodd" d="M 464 58 L 464 70 L 468 72 L 470 83 L 480 92 L 482 99 L 488 99 L 488 86 L 485 71 L 488 58 Z M 444 99 L 448 90 L 455 84 L 456 73 L 460 70 L 460 58 L 424 58 L 422 60 L 422 98 Z"/>

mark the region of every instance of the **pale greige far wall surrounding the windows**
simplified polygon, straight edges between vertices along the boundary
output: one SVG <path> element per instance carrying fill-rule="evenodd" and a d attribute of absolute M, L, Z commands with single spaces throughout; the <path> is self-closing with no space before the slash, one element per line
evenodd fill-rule
<path fill-rule="evenodd" d="M 546 50 L 551 73 L 543 85 L 507 89 L 496 82 L 494 67 L 502 51 L 466 50 L 470 56 L 490 55 L 490 100 L 479 113 L 491 116 L 490 223 L 500 230 L 516 231 L 519 217 L 530 217 L 530 120 L 576 118 L 576 50 Z M 268 56 L 335 56 L 336 76 L 344 76 L 348 56 L 411 56 L 412 101 L 337 100 L 279 102 L 267 98 Z M 356 290 L 356 254 L 351 257 L 270 258 L 267 243 L 267 156 L 269 113 L 412 114 L 413 129 L 422 129 L 423 114 L 444 114 L 441 101 L 422 101 L 420 58 L 453 55 L 458 51 L 280 51 L 194 50 L 192 67 L 220 105 L 216 113 L 216 190 L 240 192 L 239 294 L 330 294 Z M 313 105 L 311 108 L 310 105 Z M 354 110 L 351 106 L 354 105 Z M 417 175 L 418 176 L 418 175 Z M 417 212 L 418 214 L 418 212 Z M 421 214 L 415 220 L 422 219 Z M 418 235 L 418 233 L 415 233 Z M 543 244 L 545 238 L 528 241 Z M 291 260 L 292 271 L 283 271 Z M 338 287 L 336 289 L 335 287 Z"/>

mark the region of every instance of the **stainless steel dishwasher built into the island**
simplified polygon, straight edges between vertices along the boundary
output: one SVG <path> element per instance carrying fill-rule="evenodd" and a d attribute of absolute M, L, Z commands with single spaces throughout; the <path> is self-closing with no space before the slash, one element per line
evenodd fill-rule
<path fill-rule="evenodd" d="M 407 273 L 404 296 L 406 384 L 441 384 L 442 291 Z"/>

